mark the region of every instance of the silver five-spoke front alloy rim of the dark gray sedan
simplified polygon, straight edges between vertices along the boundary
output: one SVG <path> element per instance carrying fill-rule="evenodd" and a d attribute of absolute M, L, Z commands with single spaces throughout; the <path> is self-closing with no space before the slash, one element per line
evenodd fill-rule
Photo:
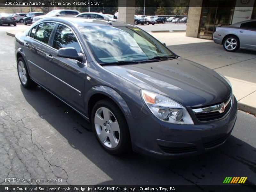
<path fill-rule="evenodd" d="M 114 114 L 108 108 L 98 108 L 94 125 L 100 142 L 107 148 L 116 148 L 120 141 L 120 128 Z"/>

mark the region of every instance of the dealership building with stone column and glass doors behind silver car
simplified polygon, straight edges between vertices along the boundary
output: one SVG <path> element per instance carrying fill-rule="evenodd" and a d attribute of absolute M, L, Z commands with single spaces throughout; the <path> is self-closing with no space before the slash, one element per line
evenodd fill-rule
<path fill-rule="evenodd" d="M 190 0 L 186 36 L 212 39 L 218 24 L 256 19 L 256 0 Z"/>

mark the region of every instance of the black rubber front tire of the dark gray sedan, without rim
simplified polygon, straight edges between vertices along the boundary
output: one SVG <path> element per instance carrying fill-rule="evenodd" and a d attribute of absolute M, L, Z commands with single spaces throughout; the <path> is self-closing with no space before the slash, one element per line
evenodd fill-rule
<path fill-rule="evenodd" d="M 116 117 L 116 120 L 119 125 L 120 134 L 119 134 L 119 142 L 115 148 L 109 148 L 105 146 L 99 139 L 99 136 L 97 134 L 95 124 L 94 124 L 94 117 L 96 114 L 96 111 L 99 108 L 108 108 L 108 110 L 111 111 L 111 113 L 114 114 Z M 92 122 L 92 129 L 95 133 L 95 136 L 97 140 L 99 141 L 100 145 L 110 154 L 113 155 L 121 155 L 127 152 L 131 151 L 131 139 L 130 139 L 130 132 L 128 125 L 126 123 L 126 119 L 124 117 L 123 112 L 120 110 L 120 108 L 110 99 L 103 99 L 98 101 L 92 108 L 92 115 L 91 115 L 91 122 Z"/>

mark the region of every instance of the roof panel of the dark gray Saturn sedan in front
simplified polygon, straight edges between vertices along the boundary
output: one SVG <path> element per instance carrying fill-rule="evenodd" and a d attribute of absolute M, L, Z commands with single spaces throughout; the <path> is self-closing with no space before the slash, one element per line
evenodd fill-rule
<path fill-rule="evenodd" d="M 55 21 L 55 22 L 61 22 L 66 25 L 75 25 L 75 26 L 106 26 L 106 25 L 125 26 L 125 27 L 133 26 L 123 22 L 119 22 L 119 21 L 86 19 L 86 18 L 77 18 L 77 17 L 48 17 L 40 20 L 40 22 L 43 22 L 43 21 Z"/>

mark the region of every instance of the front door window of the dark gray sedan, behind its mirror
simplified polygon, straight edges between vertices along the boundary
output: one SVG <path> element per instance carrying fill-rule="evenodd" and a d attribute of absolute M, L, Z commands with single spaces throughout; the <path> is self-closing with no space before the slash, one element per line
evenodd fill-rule
<path fill-rule="evenodd" d="M 78 53 L 81 52 L 81 47 L 74 33 L 67 27 L 59 25 L 53 40 L 53 48 L 60 49 L 64 47 L 74 47 Z"/>

